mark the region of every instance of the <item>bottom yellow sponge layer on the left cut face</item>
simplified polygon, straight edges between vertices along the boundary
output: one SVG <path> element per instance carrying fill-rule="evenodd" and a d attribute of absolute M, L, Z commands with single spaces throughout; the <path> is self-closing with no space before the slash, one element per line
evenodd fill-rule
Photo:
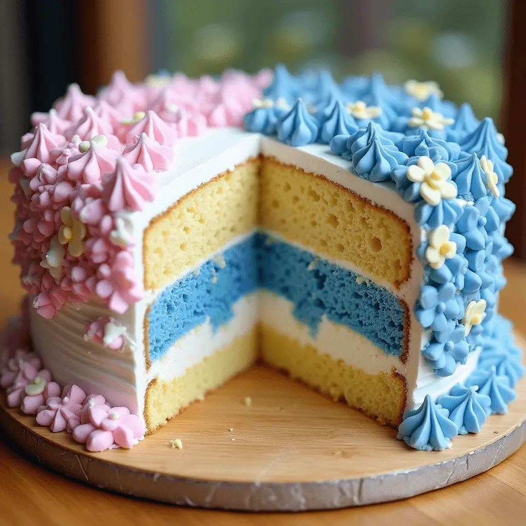
<path fill-rule="evenodd" d="M 165 424 L 188 404 L 202 400 L 205 393 L 246 369 L 256 359 L 257 335 L 253 328 L 229 346 L 216 351 L 186 370 L 183 376 L 165 382 L 154 380 L 148 386 L 144 419 L 148 432 Z"/>

